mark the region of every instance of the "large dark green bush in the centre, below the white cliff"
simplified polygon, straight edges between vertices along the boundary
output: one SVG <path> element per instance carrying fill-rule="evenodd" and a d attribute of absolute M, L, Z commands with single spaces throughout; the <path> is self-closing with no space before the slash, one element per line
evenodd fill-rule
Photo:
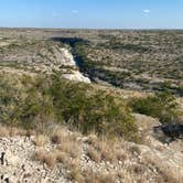
<path fill-rule="evenodd" d="M 94 92 L 86 84 L 78 85 L 54 77 L 51 95 L 57 120 L 77 127 L 84 133 L 94 130 L 98 134 L 125 137 L 136 132 L 127 105 L 105 92 Z"/>

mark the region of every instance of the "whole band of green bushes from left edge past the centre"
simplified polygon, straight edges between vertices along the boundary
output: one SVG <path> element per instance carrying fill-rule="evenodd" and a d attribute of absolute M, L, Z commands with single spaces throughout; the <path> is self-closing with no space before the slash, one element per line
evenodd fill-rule
<path fill-rule="evenodd" d="M 62 79 L 58 73 L 23 76 L 21 82 L 19 89 L 1 82 L 0 112 L 7 123 L 43 131 L 49 123 L 58 122 L 83 133 L 96 131 L 128 139 L 136 134 L 131 110 L 121 98 Z"/>

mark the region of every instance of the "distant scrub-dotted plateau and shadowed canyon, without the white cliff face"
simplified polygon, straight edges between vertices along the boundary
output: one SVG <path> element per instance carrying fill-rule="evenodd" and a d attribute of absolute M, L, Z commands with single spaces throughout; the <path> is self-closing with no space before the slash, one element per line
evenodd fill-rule
<path fill-rule="evenodd" d="M 1 65 L 49 72 L 63 46 L 95 82 L 182 95 L 182 31 L 1 30 Z"/>

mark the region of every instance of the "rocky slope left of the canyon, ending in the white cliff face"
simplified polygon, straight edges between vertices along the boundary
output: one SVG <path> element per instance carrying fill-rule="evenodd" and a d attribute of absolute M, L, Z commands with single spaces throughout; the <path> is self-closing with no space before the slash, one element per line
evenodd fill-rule
<path fill-rule="evenodd" d="M 78 69 L 69 47 L 51 40 L 0 39 L 0 71 L 10 73 L 51 74 L 90 83 Z"/>

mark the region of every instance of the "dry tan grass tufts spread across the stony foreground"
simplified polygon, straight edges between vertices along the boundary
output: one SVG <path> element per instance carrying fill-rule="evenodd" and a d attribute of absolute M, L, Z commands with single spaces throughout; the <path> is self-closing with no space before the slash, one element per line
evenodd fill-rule
<path fill-rule="evenodd" d="M 15 128 L 8 129 L 6 127 L 0 128 L 1 136 L 9 136 L 22 133 Z M 28 132 L 26 132 L 28 133 Z M 54 143 L 54 149 L 51 152 L 46 152 L 44 150 L 44 146 L 46 142 Z M 139 161 L 137 158 L 140 155 L 139 146 L 130 144 L 120 139 L 116 140 L 107 140 L 105 138 L 98 138 L 95 134 L 92 134 L 87 138 L 83 138 L 80 140 L 79 133 L 73 133 L 66 129 L 57 129 L 54 131 L 49 139 L 49 136 L 36 136 L 35 144 L 41 147 L 41 149 L 35 153 L 34 160 L 40 161 L 41 163 L 45 163 L 47 168 L 54 169 L 57 163 L 62 163 L 64 169 L 68 171 L 68 179 L 73 182 L 78 183 L 114 183 L 117 180 L 121 182 L 132 183 L 136 182 L 143 183 L 147 180 L 152 179 L 153 181 L 160 182 L 170 182 L 175 183 L 179 182 L 179 173 L 166 170 L 154 159 Z M 110 170 L 109 173 L 94 170 L 82 170 L 80 169 L 80 155 L 83 150 L 83 143 L 88 144 L 86 154 L 93 160 L 95 163 L 100 163 L 101 160 L 106 162 L 110 162 L 112 165 L 119 163 L 121 165 L 121 171 L 112 172 Z M 132 158 L 133 163 L 131 165 L 123 163 L 123 160 L 130 160 Z M 154 162 L 155 161 L 155 162 Z M 158 170 L 158 174 L 153 172 L 149 172 L 147 174 L 147 169 L 155 169 Z M 172 169 L 171 169 L 172 170 Z M 143 175 L 143 176 L 142 176 Z"/>

